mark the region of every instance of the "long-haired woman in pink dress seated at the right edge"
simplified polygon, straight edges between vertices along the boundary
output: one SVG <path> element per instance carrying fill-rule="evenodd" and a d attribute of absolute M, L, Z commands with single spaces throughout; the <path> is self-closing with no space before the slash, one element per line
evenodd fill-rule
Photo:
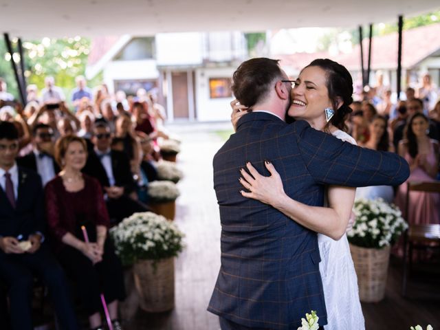
<path fill-rule="evenodd" d="M 406 140 L 399 142 L 399 155 L 410 164 L 408 181 L 436 181 L 439 169 L 439 143 L 428 137 L 429 122 L 423 113 L 412 116 L 406 126 Z M 408 182 L 407 181 L 407 182 Z M 406 182 L 399 186 L 396 204 L 405 211 Z M 440 223 L 440 194 L 410 192 L 406 219 L 413 224 Z"/>

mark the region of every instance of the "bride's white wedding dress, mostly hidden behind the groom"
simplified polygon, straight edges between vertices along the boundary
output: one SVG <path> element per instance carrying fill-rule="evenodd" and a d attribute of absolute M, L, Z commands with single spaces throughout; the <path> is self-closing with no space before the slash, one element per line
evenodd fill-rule
<path fill-rule="evenodd" d="M 356 144 L 353 137 L 343 131 L 333 136 Z M 324 287 L 327 325 L 325 330 L 364 330 L 365 321 L 359 300 L 358 276 L 351 259 L 349 241 L 344 234 L 339 241 L 318 234 L 321 262 L 319 269 Z"/>

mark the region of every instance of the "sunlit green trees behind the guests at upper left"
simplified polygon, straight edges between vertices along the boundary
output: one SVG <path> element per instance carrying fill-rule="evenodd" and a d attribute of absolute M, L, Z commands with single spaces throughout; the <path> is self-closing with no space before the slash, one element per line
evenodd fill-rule
<path fill-rule="evenodd" d="M 23 41 L 25 76 L 27 83 L 35 84 L 39 89 L 44 87 L 46 76 L 54 76 L 56 85 L 65 91 L 67 100 L 70 92 L 76 87 L 75 77 L 85 74 L 90 52 L 90 39 L 76 36 L 74 38 Z M 17 45 L 12 43 L 14 50 Z M 5 61 L 6 47 L 0 42 L 0 76 L 6 79 L 8 89 L 14 96 L 18 95 L 17 84 L 10 62 Z M 98 75 L 89 86 L 98 85 L 102 76 Z"/>

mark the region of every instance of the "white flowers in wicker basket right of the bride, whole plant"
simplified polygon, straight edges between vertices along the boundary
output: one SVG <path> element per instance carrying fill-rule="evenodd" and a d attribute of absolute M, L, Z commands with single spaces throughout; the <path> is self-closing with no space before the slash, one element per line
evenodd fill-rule
<path fill-rule="evenodd" d="M 391 245 L 408 228 L 401 211 L 383 199 L 358 199 L 356 217 L 347 233 L 351 256 L 358 275 L 360 300 L 376 303 L 385 296 Z"/>

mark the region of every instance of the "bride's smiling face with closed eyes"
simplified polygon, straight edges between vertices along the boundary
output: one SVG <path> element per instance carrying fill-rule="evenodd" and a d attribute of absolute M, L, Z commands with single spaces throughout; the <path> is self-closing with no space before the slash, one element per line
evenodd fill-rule
<path fill-rule="evenodd" d="M 306 67 L 292 89 L 288 114 L 298 120 L 325 120 L 325 108 L 333 108 L 326 85 L 326 73 L 320 67 Z"/>

